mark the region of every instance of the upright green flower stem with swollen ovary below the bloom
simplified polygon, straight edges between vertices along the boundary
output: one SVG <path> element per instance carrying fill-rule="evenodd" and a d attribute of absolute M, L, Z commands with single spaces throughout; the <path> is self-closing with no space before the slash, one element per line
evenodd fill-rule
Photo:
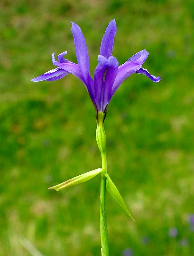
<path fill-rule="evenodd" d="M 105 113 L 98 112 L 96 115 L 97 128 L 96 128 L 96 141 L 98 148 L 101 152 L 102 169 L 101 172 L 101 189 L 100 189 L 100 235 L 101 235 L 101 253 L 102 256 L 108 256 L 108 230 L 105 215 L 105 200 L 106 200 L 106 181 L 107 178 L 104 174 L 107 173 L 107 159 L 106 159 L 106 134 L 104 131 L 104 118 Z"/>

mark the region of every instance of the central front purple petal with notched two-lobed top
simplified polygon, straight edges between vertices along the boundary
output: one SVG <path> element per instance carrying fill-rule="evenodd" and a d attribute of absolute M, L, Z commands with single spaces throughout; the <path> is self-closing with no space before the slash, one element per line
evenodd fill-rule
<path fill-rule="evenodd" d="M 95 102 L 98 111 L 104 112 L 112 98 L 111 91 L 118 72 L 118 61 L 113 56 L 107 60 L 98 55 L 98 62 L 94 71 Z"/>

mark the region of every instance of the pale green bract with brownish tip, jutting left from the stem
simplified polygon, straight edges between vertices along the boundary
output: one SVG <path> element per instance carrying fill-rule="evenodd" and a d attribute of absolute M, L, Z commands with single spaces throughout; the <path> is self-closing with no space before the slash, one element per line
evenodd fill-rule
<path fill-rule="evenodd" d="M 92 170 L 92 171 L 89 171 L 89 172 L 85 172 L 81 175 L 78 175 L 70 180 L 66 180 L 56 186 L 53 186 L 53 187 L 50 187 L 49 189 L 53 188 L 55 189 L 56 191 L 59 191 L 63 188 L 68 188 L 68 187 L 71 187 L 73 185 L 76 185 L 76 184 L 80 184 L 82 182 L 85 182 L 87 180 L 90 180 L 92 179 L 94 176 L 96 176 L 97 174 L 101 173 L 103 171 L 102 168 L 98 168 L 98 169 L 95 169 L 95 170 Z"/>

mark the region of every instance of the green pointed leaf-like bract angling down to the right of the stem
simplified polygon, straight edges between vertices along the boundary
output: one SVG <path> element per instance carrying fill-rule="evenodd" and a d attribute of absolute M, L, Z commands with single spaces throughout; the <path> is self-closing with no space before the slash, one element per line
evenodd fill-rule
<path fill-rule="evenodd" d="M 131 220 L 135 221 L 133 217 L 131 216 L 131 213 L 129 212 L 126 204 L 123 201 L 122 196 L 120 195 L 118 189 L 116 188 L 115 184 L 113 181 L 110 179 L 110 176 L 108 173 L 104 174 L 104 176 L 107 178 L 107 190 L 108 193 L 112 196 L 112 198 L 115 200 L 115 202 L 121 207 L 123 212 L 127 214 L 131 218 Z"/>

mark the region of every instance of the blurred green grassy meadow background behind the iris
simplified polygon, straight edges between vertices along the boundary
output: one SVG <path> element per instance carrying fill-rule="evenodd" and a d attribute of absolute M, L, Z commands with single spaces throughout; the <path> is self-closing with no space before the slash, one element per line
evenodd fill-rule
<path fill-rule="evenodd" d="M 136 219 L 107 195 L 110 255 L 194 255 L 194 2 L 3 0 L 1 256 L 100 255 L 100 177 L 48 190 L 101 166 L 93 104 L 72 75 L 30 79 L 53 68 L 53 52 L 76 62 L 71 20 L 82 28 L 93 74 L 112 19 L 119 63 L 146 49 L 143 67 L 161 81 L 133 74 L 108 107 L 108 172 Z"/>

